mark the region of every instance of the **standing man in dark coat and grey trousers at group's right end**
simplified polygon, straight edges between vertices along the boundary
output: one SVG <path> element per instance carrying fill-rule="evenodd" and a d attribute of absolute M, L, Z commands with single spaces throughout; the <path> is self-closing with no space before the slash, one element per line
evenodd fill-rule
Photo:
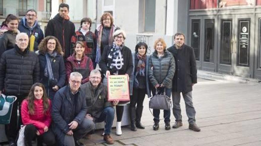
<path fill-rule="evenodd" d="M 185 35 L 176 33 L 174 35 L 175 44 L 167 50 L 172 53 L 175 58 L 176 72 L 172 81 L 172 101 L 173 114 L 176 119 L 172 128 L 182 126 L 182 115 L 180 109 L 180 92 L 186 105 L 189 129 L 200 131 L 196 125 L 195 108 L 192 102 L 192 86 L 197 83 L 197 65 L 194 50 L 192 47 L 184 44 Z"/>

